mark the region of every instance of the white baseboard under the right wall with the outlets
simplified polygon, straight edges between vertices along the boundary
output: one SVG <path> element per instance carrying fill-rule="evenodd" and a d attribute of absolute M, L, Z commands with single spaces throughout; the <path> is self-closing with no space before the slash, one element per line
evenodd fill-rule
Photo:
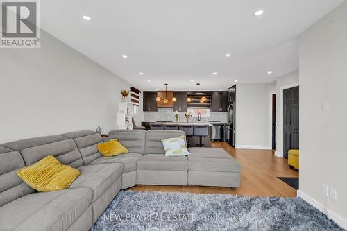
<path fill-rule="evenodd" d="M 314 198 L 308 196 L 303 191 L 296 191 L 298 197 L 305 200 L 307 203 L 315 207 L 316 209 L 319 209 L 319 211 L 323 212 L 326 216 L 328 216 L 329 219 L 332 219 L 332 221 L 335 221 L 338 225 L 341 226 L 341 228 L 347 229 L 347 220 L 344 219 L 342 216 L 337 214 L 336 212 L 333 212 L 325 205 L 319 203 L 317 200 L 314 200 Z"/>

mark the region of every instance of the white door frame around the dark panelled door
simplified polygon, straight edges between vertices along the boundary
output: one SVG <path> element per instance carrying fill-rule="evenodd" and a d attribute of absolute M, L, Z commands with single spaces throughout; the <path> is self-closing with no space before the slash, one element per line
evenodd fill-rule
<path fill-rule="evenodd" d="M 278 157 L 283 158 L 283 112 L 284 110 L 284 105 L 283 105 L 283 91 L 285 89 L 293 88 L 293 87 L 300 87 L 299 83 L 292 83 L 289 85 L 286 85 L 284 87 L 280 87 L 280 97 L 278 99 L 278 103 L 280 103 L 280 115 L 277 117 L 278 121 L 278 129 L 277 129 L 277 142 L 276 142 L 276 153 L 275 155 Z M 300 96 L 299 96 L 300 97 Z M 300 99 L 300 98 L 299 98 Z"/>

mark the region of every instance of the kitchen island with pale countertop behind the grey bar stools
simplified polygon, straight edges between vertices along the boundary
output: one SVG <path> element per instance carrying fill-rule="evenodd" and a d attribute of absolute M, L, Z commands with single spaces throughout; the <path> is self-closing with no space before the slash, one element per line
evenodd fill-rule
<path fill-rule="evenodd" d="M 171 130 L 179 130 L 180 126 L 187 126 L 187 125 L 191 125 L 191 126 L 208 126 L 208 135 L 203 136 L 202 137 L 202 144 L 203 147 L 210 147 L 211 146 L 211 127 L 212 125 L 210 123 L 207 122 L 155 122 L 155 123 L 151 123 L 153 125 L 167 125 L 167 126 L 172 126 L 173 129 Z M 187 136 L 187 146 L 192 148 L 192 147 L 197 147 L 198 144 L 200 142 L 200 137 L 199 136 Z"/>

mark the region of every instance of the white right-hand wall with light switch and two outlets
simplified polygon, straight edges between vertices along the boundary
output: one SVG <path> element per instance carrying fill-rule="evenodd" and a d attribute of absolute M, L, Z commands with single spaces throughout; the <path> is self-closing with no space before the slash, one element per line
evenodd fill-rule
<path fill-rule="evenodd" d="M 300 191 L 347 228 L 347 1 L 300 35 Z M 323 101 L 330 111 L 322 112 Z M 337 189 L 337 200 L 321 184 Z"/>

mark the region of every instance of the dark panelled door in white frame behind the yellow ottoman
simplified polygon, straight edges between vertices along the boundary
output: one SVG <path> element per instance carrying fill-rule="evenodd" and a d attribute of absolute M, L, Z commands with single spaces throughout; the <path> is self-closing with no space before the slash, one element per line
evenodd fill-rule
<path fill-rule="evenodd" d="M 290 149 L 299 149 L 299 87 L 283 91 L 283 156 Z"/>

